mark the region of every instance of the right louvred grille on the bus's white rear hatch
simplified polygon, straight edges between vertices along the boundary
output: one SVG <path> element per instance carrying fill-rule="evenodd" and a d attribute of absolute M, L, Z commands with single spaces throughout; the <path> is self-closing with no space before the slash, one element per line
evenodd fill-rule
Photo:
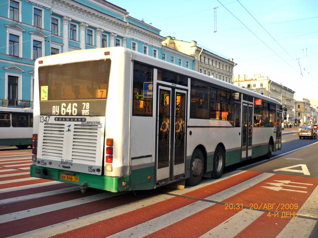
<path fill-rule="evenodd" d="M 98 125 L 74 125 L 72 159 L 82 162 L 95 161 Z"/>

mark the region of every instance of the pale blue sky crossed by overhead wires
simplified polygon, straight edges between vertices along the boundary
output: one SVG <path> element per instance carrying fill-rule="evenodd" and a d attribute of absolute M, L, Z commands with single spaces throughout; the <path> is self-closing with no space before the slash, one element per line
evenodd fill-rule
<path fill-rule="evenodd" d="M 108 1 L 161 36 L 233 58 L 234 76 L 261 74 L 318 100 L 318 0 Z"/>

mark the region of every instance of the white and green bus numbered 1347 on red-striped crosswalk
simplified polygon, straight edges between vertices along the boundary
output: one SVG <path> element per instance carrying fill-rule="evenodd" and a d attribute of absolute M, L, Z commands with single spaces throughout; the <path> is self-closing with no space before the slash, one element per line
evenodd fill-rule
<path fill-rule="evenodd" d="M 282 105 L 126 48 L 36 60 L 31 176 L 111 192 L 202 177 L 281 148 Z"/>

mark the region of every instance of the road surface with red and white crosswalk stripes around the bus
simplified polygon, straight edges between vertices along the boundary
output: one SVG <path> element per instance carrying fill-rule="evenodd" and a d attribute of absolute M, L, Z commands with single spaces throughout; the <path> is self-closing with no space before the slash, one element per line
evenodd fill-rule
<path fill-rule="evenodd" d="M 30 178 L 31 149 L 0 149 L 0 237 L 316 238 L 318 139 L 296 133 L 220 179 L 128 193 Z"/>

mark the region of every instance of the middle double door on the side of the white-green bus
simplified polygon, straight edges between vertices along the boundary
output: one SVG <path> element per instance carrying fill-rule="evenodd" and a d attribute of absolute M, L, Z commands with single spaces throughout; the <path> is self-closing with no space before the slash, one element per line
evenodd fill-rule
<path fill-rule="evenodd" d="M 242 159 L 252 156 L 253 106 L 243 103 L 242 112 Z"/>

